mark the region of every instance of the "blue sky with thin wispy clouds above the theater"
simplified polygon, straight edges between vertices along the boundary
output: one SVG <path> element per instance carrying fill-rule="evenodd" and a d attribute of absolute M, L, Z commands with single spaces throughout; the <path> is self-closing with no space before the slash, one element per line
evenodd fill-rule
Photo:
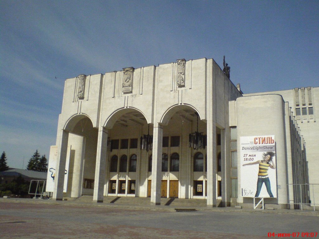
<path fill-rule="evenodd" d="M 223 56 L 244 93 L 319 86 L 319 1 L 0 1 L 0 151 L 56 143 L 66 78 Z M 24 162 L 24 163 L 23 163 Z"/>

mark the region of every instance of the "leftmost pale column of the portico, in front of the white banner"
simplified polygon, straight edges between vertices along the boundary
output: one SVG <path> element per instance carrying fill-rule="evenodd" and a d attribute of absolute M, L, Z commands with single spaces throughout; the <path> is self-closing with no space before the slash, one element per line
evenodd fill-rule
<path fill-rule="evenodd" d="M 66 154 L 68 151 L 69 132 L 61 130 L 58 160 L 56 162 L 56 176 L 54 177 L 53 199 L 61 201 L 63 199 L 63 186 L 65 175 Z"/>

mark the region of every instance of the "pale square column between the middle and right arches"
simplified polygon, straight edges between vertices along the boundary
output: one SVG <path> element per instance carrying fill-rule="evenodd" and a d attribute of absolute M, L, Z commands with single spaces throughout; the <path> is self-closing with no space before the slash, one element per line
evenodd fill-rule
<path fill-rule="evenodd" d="M 160 188 L 162 179 L 162 149 L 163 128 L 159 124 L 154 124 L 151 202 L 155 205 L 160 205 Z"/>

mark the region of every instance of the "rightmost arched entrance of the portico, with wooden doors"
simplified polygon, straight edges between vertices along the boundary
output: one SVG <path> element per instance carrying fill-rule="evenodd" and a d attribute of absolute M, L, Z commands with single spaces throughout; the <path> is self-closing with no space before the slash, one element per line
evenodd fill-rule
<path fill-rule="evenodd" d="M 198 168 L 194 155 L 206 155 L 206 123 L 190 105 L 176 105 L 162 118 L 163 155 L 167 155 L 167 172 L 162 170 L 162 184 L 167 197 L 205 198 L 207 173 L 205 158 Z M 162 163 L 163 164 L 163 163 Z M 163 168 L 163 167 L 162 167 Z"/>

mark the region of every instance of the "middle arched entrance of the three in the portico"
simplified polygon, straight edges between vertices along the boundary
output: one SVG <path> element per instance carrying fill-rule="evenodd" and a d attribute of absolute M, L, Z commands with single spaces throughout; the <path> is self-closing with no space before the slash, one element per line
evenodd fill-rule
<path fill-rule="evenodd" d="M 108 129 L 104 195 L 147 196 L 152 124 L 134 108 L 120 109 L 106 121 Z"/>

